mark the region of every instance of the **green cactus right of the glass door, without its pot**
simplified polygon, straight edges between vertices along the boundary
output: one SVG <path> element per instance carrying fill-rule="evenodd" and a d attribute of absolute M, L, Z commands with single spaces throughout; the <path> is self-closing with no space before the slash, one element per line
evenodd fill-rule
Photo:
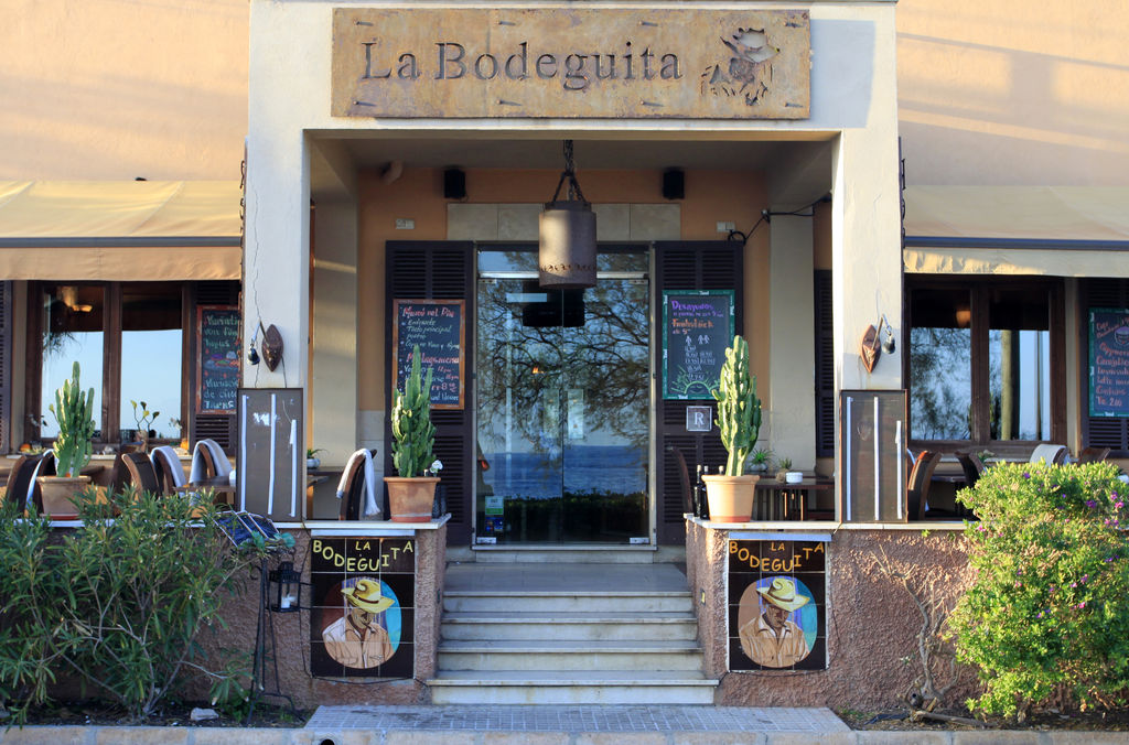
<path fill-rule="evenodd" d="M 761 400 L 756 397 L 756 376 L 749 375 L 749 344 L 733 338 L 725 350 L 719 386 L 710 392 L 717 400 L 717 426 L 721 445 L 729 453 L 725 464 L 727 476 L 745 475 L 745 458 L 761 433 Z"/>

